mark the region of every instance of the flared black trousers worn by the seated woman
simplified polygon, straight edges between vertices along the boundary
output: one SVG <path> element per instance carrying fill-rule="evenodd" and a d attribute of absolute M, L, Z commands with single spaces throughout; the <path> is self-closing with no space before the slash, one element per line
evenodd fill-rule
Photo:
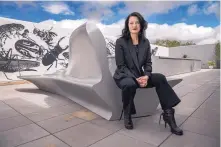
<path fill-rule="evenodd" d="M 122 79 L 119 81 L 118 86 L 122 89 L 122 101 L 123 107 L 125 108 L 134 99 L 136 89 L 140 86 L 133 78 Z M 145 88 L 152 87 L 156 87 L 156 92 L 163 110 L 170 109 L 180 102 L 180 99 L 168 84 L 166 77 L 163 74 L 152 73 L 148 80 L 148 85 Z"/>

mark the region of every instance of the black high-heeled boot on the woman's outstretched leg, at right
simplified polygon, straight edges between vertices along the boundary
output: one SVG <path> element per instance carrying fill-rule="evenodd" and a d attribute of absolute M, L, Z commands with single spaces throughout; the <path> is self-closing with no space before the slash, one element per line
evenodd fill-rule
<path fill-rule="evenodd" d="M 183 135 L 183 130 L 181 130 L 176 124 L 176 120 L 174 118 L 174 112 L 175 110 L 171 108 L 171 109 L 164 110 L 164 112 L 161 114 L 163 115 L 165 128 L 166 128 L 166 125 L 169 124 L 172 133 L 176 135 Z M 161 116 L 160 116 L 160 119 L 161 119 Z"/>

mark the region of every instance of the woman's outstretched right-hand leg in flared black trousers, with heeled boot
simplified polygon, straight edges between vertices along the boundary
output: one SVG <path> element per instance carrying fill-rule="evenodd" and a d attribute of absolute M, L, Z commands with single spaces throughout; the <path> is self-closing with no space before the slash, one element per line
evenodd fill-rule
<path fill-rule="evenodd" d="M 149 86 L 156 87 L 156 92 L 159 97 L 161 107 L 163 109 L 163 119 L 166 124 L 169 124 L 171 132 L 176 135 L 183 135 L 183 131 L 176 125 L 174 117 L 175 110 L 172 108 L 180 103 L 180 99 L 168 84 L 166 77 L 160 73 L 153 73 L 148 81 Z"/>

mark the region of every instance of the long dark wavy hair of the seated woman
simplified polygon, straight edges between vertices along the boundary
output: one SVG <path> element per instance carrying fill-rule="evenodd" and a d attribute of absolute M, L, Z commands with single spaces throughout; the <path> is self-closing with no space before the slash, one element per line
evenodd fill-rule
<path fill-rule="evenodd" d="M 138 13 L 138 12 L 133 12 L 131 14 L 129 14 L 125 20 L 125 24 L 124 24 L 124 29 L 122 30 L 122 35 L 121 37 L 123 38 L 126 38 L 126 39 L 130 39 L 131 36 L 130 36 L 130 31 L 129 31 L 129 26 L 128 26 L 128 23 L 129 23 L 129 19 L 131 16 L 135 16 L 138 18 L 139 20 L 139 23 L 140 23 L 140 32 L 139 32 L 139 40 L 143 39 L 143 38 L 146 38 L 146 29 L 147 29 L 147 22 L 146 20 L 143 18 L 143 16 Z"/>

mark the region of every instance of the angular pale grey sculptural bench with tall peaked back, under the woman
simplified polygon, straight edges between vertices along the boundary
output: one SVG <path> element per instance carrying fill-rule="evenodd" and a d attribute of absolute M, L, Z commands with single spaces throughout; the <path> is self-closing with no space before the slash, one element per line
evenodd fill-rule
<path fill-rule="evenodd" d="M 63 73 L 19 76 L 39 89 L 67 97 L 107 120 L 120 118 L 121 90 L 116 86 L 108 64 L 104 36 L 95 24 L 87 22 L 73 31 L 69 65 Z M 110 68 L 110 69 L 109 69 Z M 167 79 L 173 87 L 181 79 Z M 138 89 L 136 116 L 155 112 L 159 100 L 155 88 Z"/>

